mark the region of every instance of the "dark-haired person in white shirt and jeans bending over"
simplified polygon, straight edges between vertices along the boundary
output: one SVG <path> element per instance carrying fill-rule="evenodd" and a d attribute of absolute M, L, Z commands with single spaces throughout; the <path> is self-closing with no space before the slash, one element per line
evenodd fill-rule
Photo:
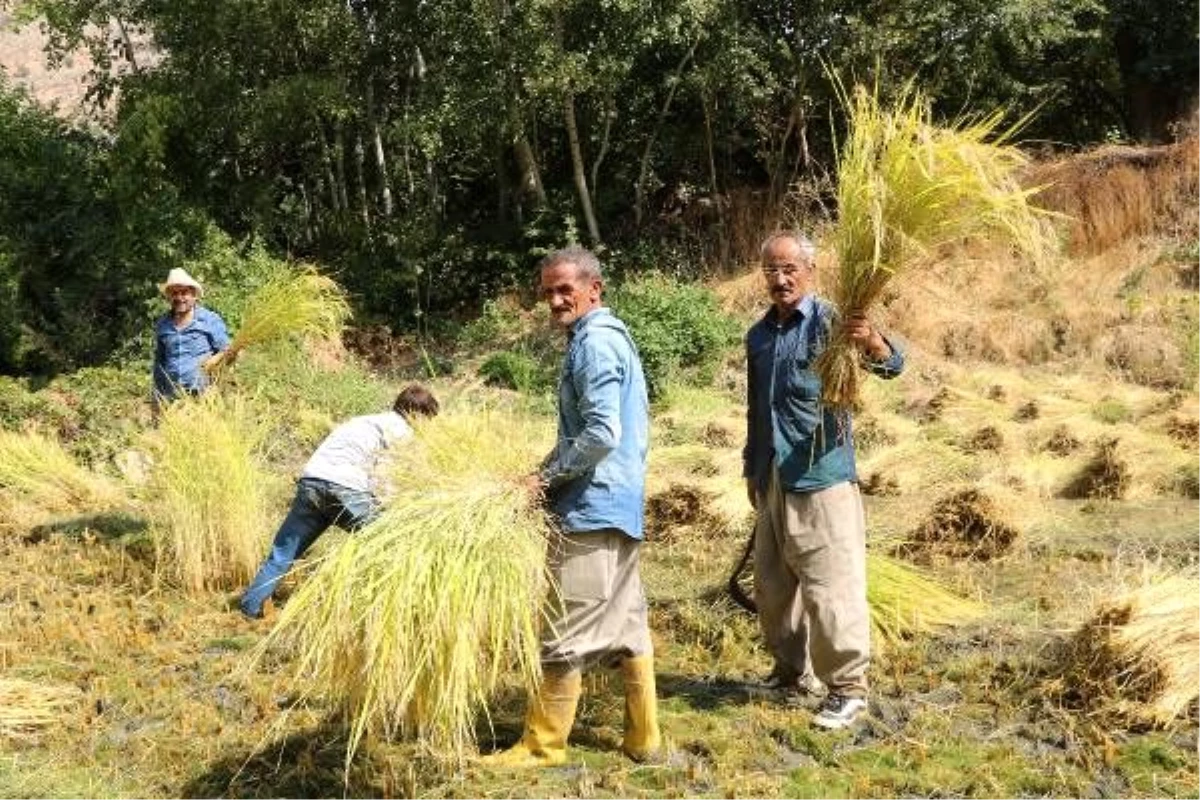
<path fill-rule="evenodd" d="M 260 618 L 263 606 L 292 564 L 329 528 L 359 530 L 379 515 L 374 473 L 380 456 L 413 435 L 406 417 L 437 413 L 437 398 L 425 386 L 413 384 L 400 392 L 390 411 L 355 416 L 325 437 L 305 464 L 270 554 L 241 596 L 242 614 Z"/>

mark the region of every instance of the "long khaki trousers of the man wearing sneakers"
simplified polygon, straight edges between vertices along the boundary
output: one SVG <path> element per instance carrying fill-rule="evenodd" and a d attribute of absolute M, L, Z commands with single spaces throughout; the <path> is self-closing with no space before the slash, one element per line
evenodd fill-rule
<path fill-rule="evenodd" d="M 758 494 L 755 602 L 779 663 L 812 672 L 830 692 L 865 697 L 870 662 L 866 524 L 858 486 L 785 492 L 772 470 Z"/>

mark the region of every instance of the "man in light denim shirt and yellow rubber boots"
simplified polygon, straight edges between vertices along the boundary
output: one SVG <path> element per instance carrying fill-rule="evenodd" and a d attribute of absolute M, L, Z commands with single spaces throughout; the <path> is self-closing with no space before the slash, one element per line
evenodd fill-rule
<path fill-rule="evenodd" d="M 541 265 L 541 296 L 568 338 L 558 385 L 558 441 L 542 487 L 558 531 L 548 549 L 552 595 L 542 632 L 542 682 L 529 698 L 524 733 L 486 757 L 506 766 L 566 760 L 582 673 L 619 667 L 625 685 L 624 752 L 646 760 L 660 748 L 654 655 L 638 571 L 649 403 L 637 348 L 601 305 L 600 263 L 571 247 Z"/>

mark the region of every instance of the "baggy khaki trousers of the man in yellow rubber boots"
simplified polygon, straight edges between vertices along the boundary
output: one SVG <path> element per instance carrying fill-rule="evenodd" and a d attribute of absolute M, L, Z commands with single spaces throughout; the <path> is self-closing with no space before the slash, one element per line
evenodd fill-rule
<path fill-rule="evenodd" d="M 553 587 L 542 628 L 544 667 L 616 667 L 626 656 L 652 652 L 640 546 L 616 529 L 554 535 L 547 557 Z"/>

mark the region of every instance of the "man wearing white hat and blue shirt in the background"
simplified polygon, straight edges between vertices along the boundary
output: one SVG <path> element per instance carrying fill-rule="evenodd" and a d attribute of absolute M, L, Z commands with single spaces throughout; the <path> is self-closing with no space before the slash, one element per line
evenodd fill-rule
<path fill-rule="evenodd" d="M 208 373 L 222 361 L 233 361 L 224 320 L 197 305 L 204 287 L 176 266 L 160 288 L 170 311 L 154 325 L 155 403 L 199 395 L 209 385 Z"/>

